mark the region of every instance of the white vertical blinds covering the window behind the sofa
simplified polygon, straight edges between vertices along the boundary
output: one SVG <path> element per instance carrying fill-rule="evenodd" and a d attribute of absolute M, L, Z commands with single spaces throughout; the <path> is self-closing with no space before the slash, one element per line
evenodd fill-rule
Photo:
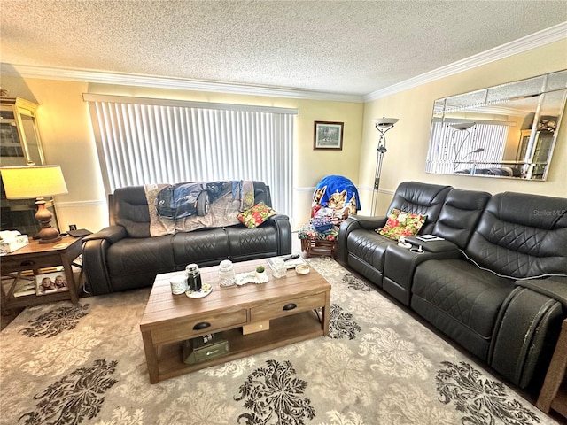
<path fill-rule="evenodd" d="M 150 183 L 259 180 L 292 209 L 297 110 L 85 94 L 105 190 Z"/>

